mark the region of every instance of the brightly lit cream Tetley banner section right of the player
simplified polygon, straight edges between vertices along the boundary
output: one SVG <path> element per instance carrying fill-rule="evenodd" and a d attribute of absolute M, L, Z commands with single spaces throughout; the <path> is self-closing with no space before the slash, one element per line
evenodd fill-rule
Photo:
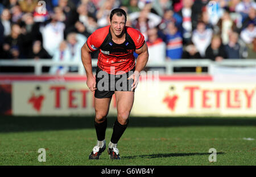
<path fill-rule="evenodd" d="M 146 83 L 140 84 L 143 87 Z M 152 92 L 157 95 L 151 95 Z M 156 90 L 135 92 L 132 113 L 136 116 L 255 116 L 256 84 L 160 82 Z"/>

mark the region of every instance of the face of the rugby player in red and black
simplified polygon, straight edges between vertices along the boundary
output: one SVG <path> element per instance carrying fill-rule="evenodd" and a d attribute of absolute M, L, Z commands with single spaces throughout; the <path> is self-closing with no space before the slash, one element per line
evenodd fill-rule
<path fill-rule="evenodd" d="M 112 21 L 110 22 L 110 27 L 112 28 L 115 36 L 121 36 L 125 29 L 125 15 L 117 16 L 114 14 Z"/>

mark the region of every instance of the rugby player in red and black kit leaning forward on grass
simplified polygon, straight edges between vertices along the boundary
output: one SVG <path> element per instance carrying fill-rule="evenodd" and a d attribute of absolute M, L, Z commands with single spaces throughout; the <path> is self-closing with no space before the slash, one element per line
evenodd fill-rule
<path fill-rule="evenodd" d="M 90 57 L 90 52 L 95 50 L 100 50 L 96 77 L 92 73 L 92 58 Z M 136 64 L 133 52 L 138 54 Z M 113 94 L 115 94 L 117 103 L 117 120 L 114 123 L 113 134 L 108 145 L 108 153 L 110 159 L 121 159 L 117 142 L 127 128 L 139 74 L 148 61 L 144 36 L 137 29 L 126 26 L 124 10 L 114 9 L 110 14 L 110 25 L 94 31 L 82 46 L 81 60 L 86 71 L 86 84 L 91 91 L 94 91 L 95 97 L 94 125 L 97 144 L 93 147 L 89 159 L 99 159 L 101 153 L 106 149 L 106 116 Z M 121 84 L 118 85 L 118 83 Z"/>

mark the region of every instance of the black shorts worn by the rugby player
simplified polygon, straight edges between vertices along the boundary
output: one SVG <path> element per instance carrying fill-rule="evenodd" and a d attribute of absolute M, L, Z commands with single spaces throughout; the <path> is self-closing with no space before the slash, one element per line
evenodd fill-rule
<path fill-rule="evenodd" d="M 96 98 L 111 98 L 114 91 L 131 91 L 133 79 L 129 79 L 134 69 L 124 74 L 109 74 L 97 67 L 96 69 L 96 90 L 94 96 Z M 133 90 L 134 91 L 134 90 Z"/>

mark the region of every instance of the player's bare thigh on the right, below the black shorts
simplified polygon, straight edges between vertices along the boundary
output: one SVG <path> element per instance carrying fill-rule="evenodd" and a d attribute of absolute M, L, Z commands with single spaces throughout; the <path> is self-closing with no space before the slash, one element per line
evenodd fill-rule
<path fill-rule="evenodd" d="M 118 114 L 130 114 L 134 102 L 133 91 L 115 91 Z M 129 115 L 128 115 L 129 116 Z"/>

